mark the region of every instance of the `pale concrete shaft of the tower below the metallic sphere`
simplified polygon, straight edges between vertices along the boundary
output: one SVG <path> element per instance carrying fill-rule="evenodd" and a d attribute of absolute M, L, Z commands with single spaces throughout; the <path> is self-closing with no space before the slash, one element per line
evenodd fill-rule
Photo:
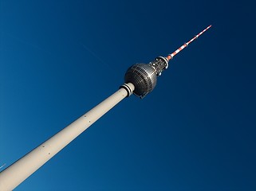
<path fill-rule="evenodd" d="M 128 83 L 127 85 L 131 91 L 134 90 L 133 84 Z M 49 138 L 17 162 L 14 162 L 6 170 L 3 170 L 0 173 L 0 190 L 7 191 L 16 188 L 22 181 L 30 177 L 45 162 L 49 161 L 50 158 L 67 146 L 69 142 L 72 142 L 74 138 L 90 127 L 97 119 L 126 96 L 128 96 L 127 90 L 120 88 L 116 93 L 104 99 L 104 101 L 93 107 L 92 110 L 82 115 L 68 127 L 65 127 L 62 131 L 53 135 L 52 138 Z"/>

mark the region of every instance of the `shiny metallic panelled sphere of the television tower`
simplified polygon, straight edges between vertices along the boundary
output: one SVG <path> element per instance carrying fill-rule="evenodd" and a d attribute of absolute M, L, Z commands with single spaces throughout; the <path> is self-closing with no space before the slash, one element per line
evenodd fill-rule
<path fill-rule="evenodd" d="M 143 98 L 156 87 L 156 70 L 149 64 L 134 64 L 124 76 L 125 83 L 135 86 L 133 93 Z"/>

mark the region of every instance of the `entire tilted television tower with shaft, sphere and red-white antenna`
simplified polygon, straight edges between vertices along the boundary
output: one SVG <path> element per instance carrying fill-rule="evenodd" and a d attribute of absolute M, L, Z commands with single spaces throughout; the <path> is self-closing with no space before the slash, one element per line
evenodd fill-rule
<path fill-rule="evenodd" d="M 156 87 L 157 76 L 161 76 L 161 73 L 168 68 L 168 62 L 210 28 L 211 25 L 167 57 L 156 57 L 149 64 L 134 64 L 128 68 L 124 76 L 125 84 L 121 85 L 117 92 L 3 170 L 0 173 L 0 190 L 15 189 L 125 97 L 133 93 L 142 99 L 152 92 Z"/>

